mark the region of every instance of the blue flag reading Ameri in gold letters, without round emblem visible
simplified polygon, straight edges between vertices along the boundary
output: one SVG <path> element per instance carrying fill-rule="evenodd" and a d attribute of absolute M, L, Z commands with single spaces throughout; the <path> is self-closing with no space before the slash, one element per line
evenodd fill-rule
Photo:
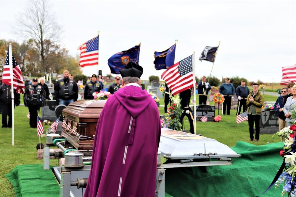
<path fill-rule="evenodd" d="M 162 52 L 154 52 L 154 67 L 156 70 L 168 69 L 175 62 L 176 43 Z"/>

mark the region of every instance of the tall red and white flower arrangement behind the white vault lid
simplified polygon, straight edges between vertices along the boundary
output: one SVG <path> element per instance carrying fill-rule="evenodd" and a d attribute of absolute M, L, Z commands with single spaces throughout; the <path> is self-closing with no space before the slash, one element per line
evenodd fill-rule
<path fill-rule="evenodd" d="M 181 109 L 179 95 L 171 98 L 172 105 L 168 108 L 167 116 L 163 127 L 170 128 L 176 131 L 182 130 L 182 124 L 180 123 L 180 116 L 184 110 Z"/>

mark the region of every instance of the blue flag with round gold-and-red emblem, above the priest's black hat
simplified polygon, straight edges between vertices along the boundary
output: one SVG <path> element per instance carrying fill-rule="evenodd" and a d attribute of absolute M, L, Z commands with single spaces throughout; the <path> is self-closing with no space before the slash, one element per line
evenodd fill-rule
<path fill-rule="evenodd" d="M 141 43 L 127 51 L 121 51 L 111 56 L 108 59 L 108 66 L 110 67 L 111 73 L 120 74 L 119 71 L 124 69 L 124 66 L 130 61 L 139 64 L 140 45 Z"/>

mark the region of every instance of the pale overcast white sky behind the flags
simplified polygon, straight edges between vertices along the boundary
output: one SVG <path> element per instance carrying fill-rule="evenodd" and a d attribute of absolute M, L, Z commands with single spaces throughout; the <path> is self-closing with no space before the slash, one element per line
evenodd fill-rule
<path fill-rule="evenodd" d="M 14 35 L 16 16 L 26 1 L 0 1 L 0 38 Z M 175 63 L 195 51 L 196 75 L 209 75 L 213 63 L 199 61 L 205 46 L 218 46 L 212 75 L 280 82 L 283 66 L 296 64 L 296 1 L 50 1 L 62 26 L 61 45 L 75 56 L 78 46 L 99 36 L 99 70 L 107 60 L 141 42 L 141 79 L 160 76 L 154 51 L 178 40 Z M 86 66 L 91 76 L 97 66 Z M 115 75 L 114 75 L 115 76 Z"/>

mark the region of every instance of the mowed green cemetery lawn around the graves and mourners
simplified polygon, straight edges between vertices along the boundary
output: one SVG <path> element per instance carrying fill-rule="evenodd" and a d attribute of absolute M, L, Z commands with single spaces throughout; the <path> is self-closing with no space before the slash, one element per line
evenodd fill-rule
<path fill-rule="evenodd" d="M 264 95 L 265 101 L 276 101 L 277 96 Z M 193 96 L 192 98 L 193 99 Z M 21 103 L 22 96 L 21 96 Z M 198 103 L 198 95 L 197 95 Z M 160 105 L 164 105 L 164 99 L 160 99 Z M 210 102 L 210 105 L 214 105 Z M 159 107 L 160 115 L 164 113 L 164 107 Z M 221 115 L 221 110 L 219 111 Z M 0 124 L 0 196 L 15 196 L 14 189 L 9 181 L 4 177 L 17 165 L 27 164 L 42 164 L 43 161 L 37 159 L 36 146 L 39 143 L 37 137 L 37 129 L 30 128 L 29 119 L 26 117 L 28 108 L 18 106 L 15 108 L 15 139 L 12 146 L 12 129 L 1 128 Z M 197 122 L 197 134 L 202 134 L 205 137 L 216 139 L 217 141 L 233 147 L 237 141 L 244 141 L 255 145 L 264 145 L 268 143 L 280 142 L 279 137 L 272 137 L 272 134 L 260 134 L 258 142 L 250 142 L 248 122 L 237 124 L 236 110 L 231 110 L 231 115 L 222 115 L 220 122 Z M 216 110 L 215 115 L 218 115 Z M 2 116 L 0 115 L 0 118 Z M 147 119 L 149 121 L 149 119 Z M 185 129 L 189 130 L 189 121 L 184 118 Z M 44 125 L 44 130 L 49 126 Z M 45 132 L 44 132 L 45 133 Z M 46 138 L 41 138 L 41 143 L 46 143 Z M 50 159 L 50 165 L 58 166 L 57 159 Z"/>

